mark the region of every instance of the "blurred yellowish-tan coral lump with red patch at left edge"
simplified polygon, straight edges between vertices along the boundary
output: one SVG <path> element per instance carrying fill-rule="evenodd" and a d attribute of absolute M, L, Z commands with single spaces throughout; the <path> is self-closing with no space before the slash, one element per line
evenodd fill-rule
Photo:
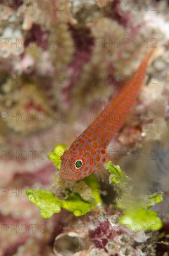
<path fill-rule="evenodd" d="M 5 129 L 22 135 L 52 125 L 52 109 L 46 104 L 45 95 L 35 83 L 24 80 L 22 76 L 9 77 L 3 84 L 1 100 Z"/>

